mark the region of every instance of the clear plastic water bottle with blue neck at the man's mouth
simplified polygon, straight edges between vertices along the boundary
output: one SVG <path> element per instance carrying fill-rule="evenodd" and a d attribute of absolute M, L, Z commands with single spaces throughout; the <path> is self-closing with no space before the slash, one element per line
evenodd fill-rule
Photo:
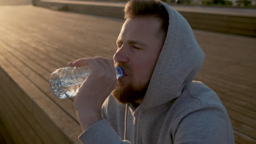
<path fill-rule="evenodd" d="M 120 67 L 115 68 L 115 73 L 117 79 L 124 75 L 124 71 Z M 86 66 L 57 69 L 51 74 L 51 91 L 60 99 L 74 97 L 89 74 L 90 69 Z"/>

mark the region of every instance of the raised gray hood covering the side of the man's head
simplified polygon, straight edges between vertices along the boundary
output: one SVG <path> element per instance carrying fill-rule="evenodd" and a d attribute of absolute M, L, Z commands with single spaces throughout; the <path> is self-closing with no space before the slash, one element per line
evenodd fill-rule
<path fill-rule="evenodd" d="M 143 109 L 151 109 L 179 97 L 183 87 L 193 81 L 204 60 L 204 53 L 187 20 L 166 3 L 161 4 L 168 11 L 168 32 L 140 105 Z"/>

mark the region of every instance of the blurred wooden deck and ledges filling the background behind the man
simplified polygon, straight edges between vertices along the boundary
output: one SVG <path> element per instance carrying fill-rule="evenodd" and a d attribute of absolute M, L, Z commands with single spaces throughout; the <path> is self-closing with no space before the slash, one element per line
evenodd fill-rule
<path fill-rule="evenodd" d="M 127 1 L 0 0 L 0 143 L 80 143 L 74 98 L 50 74 L 82 57 L 112 58 Z M 236 144 L 256 143 L 255 0 L 164 1 L 206 54 L 195 80 L 219 95 Z"/>

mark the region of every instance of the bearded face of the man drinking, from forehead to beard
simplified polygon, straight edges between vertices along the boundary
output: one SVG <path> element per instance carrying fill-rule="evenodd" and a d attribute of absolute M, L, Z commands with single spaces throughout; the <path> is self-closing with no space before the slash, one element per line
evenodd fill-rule
<path fill-rule="evenodd" d="M 127 19 L 117 39 L 115 67 L 124 69 L 112 95 L 120 103 L 143 99 L 163 45 L 161 19 L 135 17 Z"/>

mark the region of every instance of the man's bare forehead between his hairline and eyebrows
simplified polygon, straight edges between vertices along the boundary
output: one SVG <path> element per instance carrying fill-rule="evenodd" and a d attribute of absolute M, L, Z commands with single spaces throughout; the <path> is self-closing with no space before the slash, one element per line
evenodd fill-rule
<path fill-rule="evenodd" d="M 127 19 L 121 29 L 118 39 L 149 40 L 158 38 L 161 19 L 158 17 L 135 17 Z"/>

